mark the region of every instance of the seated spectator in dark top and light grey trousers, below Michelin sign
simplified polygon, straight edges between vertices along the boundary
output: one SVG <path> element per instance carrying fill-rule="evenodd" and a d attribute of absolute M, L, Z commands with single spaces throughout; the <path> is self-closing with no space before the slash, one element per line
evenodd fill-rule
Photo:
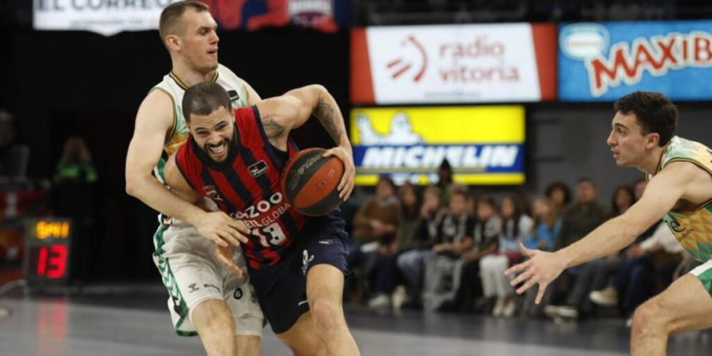
<path fill-rule="evenodd" d="M 460 256 L 473 246 L 474 219 L 467 211 L 464 192 L 452 192 L 448 213 L 437 228 L 433 256 L 425 260 L 423 301 L 426 310 L 452 302 L 460 284 Z"/>

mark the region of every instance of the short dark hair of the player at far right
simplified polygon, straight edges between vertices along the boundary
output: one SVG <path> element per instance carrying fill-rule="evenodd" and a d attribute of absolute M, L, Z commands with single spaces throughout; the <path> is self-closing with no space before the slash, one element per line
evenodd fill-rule
<path fill-rule="evenodd" d="M 662 93 L 636 91 L 625 95 L 613 104 L 616 111 L 635 114 L 643 127 L 643 134 L 660 135 L 659 146 L 667 145 L 677 127 L 677 107 Z"/>

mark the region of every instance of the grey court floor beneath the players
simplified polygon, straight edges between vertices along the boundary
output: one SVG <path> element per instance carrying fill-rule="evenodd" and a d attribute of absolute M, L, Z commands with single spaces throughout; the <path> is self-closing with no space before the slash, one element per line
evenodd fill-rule
<path fill-rule="evenodd" d="M 161 286 L 101 286 L 81 293 L 0 296 L 0 355 L 203 355 L 195 337 L 172 333 Z M 557 325 L 546 320 L 482 315 L 377 314 L 347 306 L 362 355 L 627 355 L 622 320 Z M 708 332 L 674 337 L 669 355 L 710 355 Z M 289 355 L 266 328 L 262 355 Z"/>

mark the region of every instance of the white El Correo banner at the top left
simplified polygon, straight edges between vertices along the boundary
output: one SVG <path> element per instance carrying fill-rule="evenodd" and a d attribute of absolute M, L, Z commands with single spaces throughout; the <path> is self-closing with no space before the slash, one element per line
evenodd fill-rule
<path fill-rule="evenodd" d="M 158 28 L 164 7 L 178 0 L 34 0 L 36 30 L 84 30 L 111 36 Z"/>

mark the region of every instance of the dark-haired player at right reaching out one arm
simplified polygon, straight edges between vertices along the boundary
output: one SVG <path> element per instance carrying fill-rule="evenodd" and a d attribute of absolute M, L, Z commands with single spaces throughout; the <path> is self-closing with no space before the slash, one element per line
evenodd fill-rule
<path fill-rule="evenodd" d="M 712 150 L 674 136 L 677 108 L 661 93 L 631 93 L 614 108 L 607 143 L 617 165 L 646 173 L 643 196 L 567 248 L 548 253 L 521 246 L 530 259 L 506 273 L 520 273 L 512 281 L 524 283 L 517 293 L 538 284 L 539 303 L 565 268 L 621 250 L 664 218 L 681 245 L 704 262 L 635 310 L 631 355 L 666 355 L 669 335 L 712 327 Z"/>

